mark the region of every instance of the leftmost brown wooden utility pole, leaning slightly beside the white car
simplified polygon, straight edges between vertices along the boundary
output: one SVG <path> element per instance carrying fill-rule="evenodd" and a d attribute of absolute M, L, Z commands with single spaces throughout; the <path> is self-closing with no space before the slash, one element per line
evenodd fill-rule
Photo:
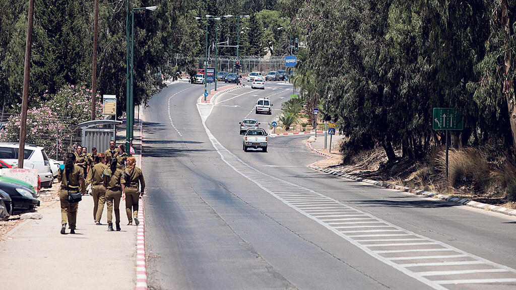
<path fill-rule="evenodd" d="M 18 151 L 18 168 L 23 168 L 25 153 L 25 134 L 27 130 L 27 107 L 29 100 L 30 49 L 32 47 L 32 30 L 34 20 L 34 0 L 29 0 L 27 19 L 27 41 L 25 42 L 25 66 L 23 69 L 22 112 L 20 114 L 20 147 Z"/>

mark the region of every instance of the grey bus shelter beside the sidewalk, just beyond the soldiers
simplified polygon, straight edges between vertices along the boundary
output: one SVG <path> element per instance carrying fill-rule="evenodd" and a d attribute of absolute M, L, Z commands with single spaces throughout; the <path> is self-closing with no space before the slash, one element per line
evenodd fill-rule
<path fill-rule="evenodd" d="M 83 146 L 88 148 L 95 147 L 97 152 L 103 153 L 109 148 L 109 141 L 116 141 L 116 125 L 122 121 L 116 120 L 93 120 L 78 124 L 83 131 Z"/>

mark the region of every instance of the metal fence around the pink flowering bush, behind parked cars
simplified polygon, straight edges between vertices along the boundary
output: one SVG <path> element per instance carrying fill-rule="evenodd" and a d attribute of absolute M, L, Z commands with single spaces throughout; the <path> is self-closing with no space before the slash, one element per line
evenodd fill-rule
<path fill-rule="evenodd" d="M 1 114 L 0 114 L 1 115 Z M 20 141 L 20 115 L 0 116 L 0 142 Z M 57 118 L 31 119 L 27 116 L 27 137 L 25 142 L 45 148 L 49 158 L 64 160 L 82 142 L 80 128 L 68 120 Z"/>

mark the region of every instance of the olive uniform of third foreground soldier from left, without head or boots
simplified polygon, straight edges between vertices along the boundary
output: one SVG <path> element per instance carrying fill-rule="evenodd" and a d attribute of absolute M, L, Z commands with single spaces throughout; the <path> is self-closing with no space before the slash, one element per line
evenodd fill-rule
<path fill-rule="evenodd" d="M 107 204 L 107 223 L 113 222 L 113 204 L 115 204 L 115 220 L 120 223 L 120 199 L 122 198 L 122 184 L 125 183 L 123 179 L 124 171 L 117 168 L 113 174 L 111 169 L 104 170 L 103 179 L 106 187 L 106 204 Z"/>

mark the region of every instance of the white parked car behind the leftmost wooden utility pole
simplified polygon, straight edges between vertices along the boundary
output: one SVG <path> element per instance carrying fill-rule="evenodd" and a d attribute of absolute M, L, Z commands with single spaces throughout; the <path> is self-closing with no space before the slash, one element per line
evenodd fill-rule
<path fill-rule="evenodd" d="M 18 166 L 18 149 L 19 143 L 0 142 L 0 159 L 11 166 Z M 50 168 L 49 157 L 46 156 L 43 147 L 35 146 L 33 144 L 25 144 L 24 150 L 24 168 L 32 168 L 38 170 L 39 178 L 41 179 L 42 187 L 52 187 L 54 175 Z"/>

